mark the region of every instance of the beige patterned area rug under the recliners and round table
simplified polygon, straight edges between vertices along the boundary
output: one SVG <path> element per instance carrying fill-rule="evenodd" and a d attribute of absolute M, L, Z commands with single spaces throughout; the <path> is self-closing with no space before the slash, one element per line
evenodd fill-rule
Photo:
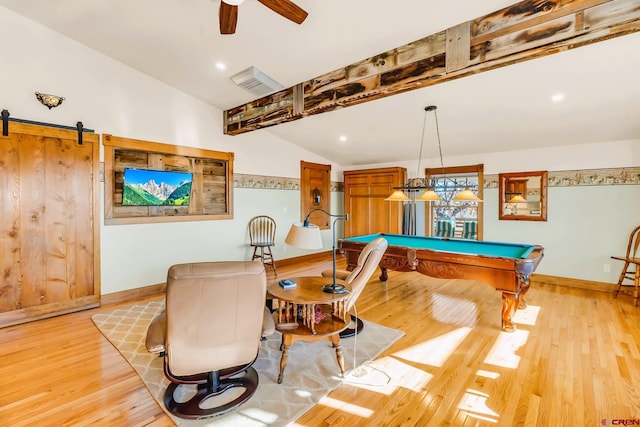
<path fill-rule="evenodd" d="M 170 414 L 162 403 L 168 385 L 162 358 L 148 353 L 144 341 L 151 320 L 164 309 L 164 301 L 152 301 L 109 313 L 96 314 L 93 322 L 100 332 L 140 375 L 151 395 L 178 426 L 287 426 L 337 388 L 339 376 L 335 350 L 328 340 L 296 342 L 289 350 L 282 384 L 276 383 L 280 369 L 280 339 L 276 332 L 263 341 L 254 368 L 259 374 L 256 393 L 235 412 L 208 420 L 192 421 Z M 347 373 L 373 360 L 404 335 L 396 329 L 364 321 L 355 338 L 343 339 Z M 354 351 L 355 347 L 355 351 Z"/>

